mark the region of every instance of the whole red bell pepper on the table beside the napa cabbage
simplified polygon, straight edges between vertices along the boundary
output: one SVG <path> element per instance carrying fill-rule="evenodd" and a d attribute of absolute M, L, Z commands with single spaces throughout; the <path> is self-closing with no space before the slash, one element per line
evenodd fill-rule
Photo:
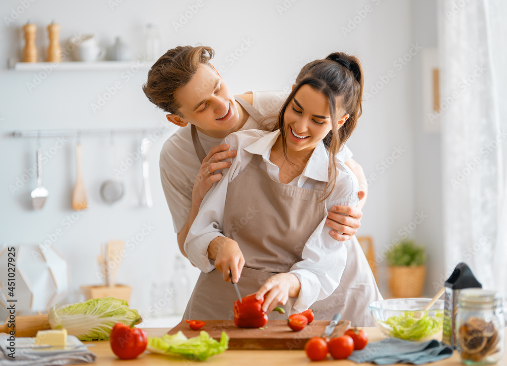
<path fill-rule="evenodd" d="M 137 321 L 137 320 L 136 320 Z M 116 323 L 109 335 L 111 349 L 121 359 L 136 358 L 146 349 L 148 336 L 141 328 Z"/>

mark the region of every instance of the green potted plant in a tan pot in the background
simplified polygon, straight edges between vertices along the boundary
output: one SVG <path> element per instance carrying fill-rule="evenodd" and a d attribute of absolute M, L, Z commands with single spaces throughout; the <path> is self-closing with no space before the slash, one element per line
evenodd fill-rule
<path fill-rule="evenodd" d="M 389 288 L 395 298 L 422 295 L 426 277 L 426 250 L 413 240 L 402 240 L 387 253 Z"/>

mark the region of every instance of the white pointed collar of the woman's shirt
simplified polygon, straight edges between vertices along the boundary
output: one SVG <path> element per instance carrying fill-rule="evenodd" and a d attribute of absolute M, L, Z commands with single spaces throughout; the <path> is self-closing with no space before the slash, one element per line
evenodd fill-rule
<path fill-rule="evenodd" d="M 249 144 L 244 148 L 245 151 L 251 154 L 262 155 L 262 158 L 266 163 L 271 163 L 269 160 L 269 156 L 271 155 L 271 148 L 275 144 L 276 139 L 280 135 L 280 130 L 276 130 L 274 132 L 267 133 L 266 135 L 259 138 L 257 141 Z M 310 159 L 306 163 L 305 169 L 301 173 L 301 175 L 306 176 L 308 178 L 325 181 L 329 180 L 329 155 L 328 151 L 325 148 L 325 145 L 322 141 L 320 141 L 315 150 L 313 150 Z"/>

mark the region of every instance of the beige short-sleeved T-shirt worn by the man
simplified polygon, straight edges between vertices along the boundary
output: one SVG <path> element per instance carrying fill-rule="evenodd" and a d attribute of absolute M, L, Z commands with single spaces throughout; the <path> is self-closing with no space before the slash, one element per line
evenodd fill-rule
<path fill-rule="evenodd" d="M 253 107 L 263 116 L 276 115 L 285 99 L 287 91 L 253 92 Z M 240 131 L 259 128 L 259 122 L 248 117 Z M 222 143 L 221 138 L 214 138 L 197 131 L 206 154 L 209 150 Z M 352 157 L 345 147 L 337 157 L 347 161 Z M 165 141 L 160 152 L 160 178 L 165 198 L 171 211 L 174 231 L 179 233 L 187 223 L 192 204 L 192 188 L 201 163 L 197 158 L 192 143 L 190 125 L 178 129 Z"/>

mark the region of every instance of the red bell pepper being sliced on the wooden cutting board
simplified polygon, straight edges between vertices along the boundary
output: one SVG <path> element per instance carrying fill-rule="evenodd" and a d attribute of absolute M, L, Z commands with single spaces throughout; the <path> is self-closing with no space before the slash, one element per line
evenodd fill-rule
<path fill-rule="evenodd" d="M 255 294 L 245 296 L 242 303 L 239 300 L 234 302 L 234 324 L 240 328 L 260 328 L 268 322 L 268 314 L 262 310 L 264 297 L 256 300 Z M 276 307 L 274 310 L 279 313 L 285 313 L 282 308 Z"/>

